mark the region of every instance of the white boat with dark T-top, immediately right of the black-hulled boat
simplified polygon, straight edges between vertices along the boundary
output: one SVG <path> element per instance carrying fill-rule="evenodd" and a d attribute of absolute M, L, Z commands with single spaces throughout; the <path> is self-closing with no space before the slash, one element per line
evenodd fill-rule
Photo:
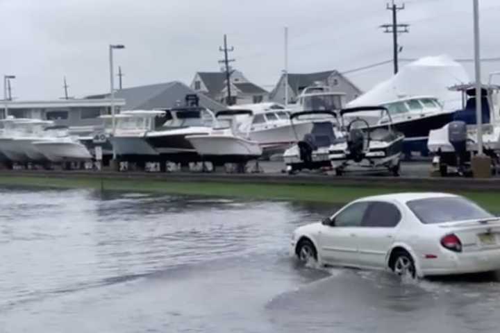
<path fill-rule="evenodd" d="M 186 139 L 194 146 L 203 161 L 215 165 L 226 163 L 246 164 L 249 160 L 256 160 L 263 153 L 259 142 L 248 139 L 241 133 L 235 117 L 247 114 L 251 110 L 222 110 L 217 112 L 219 126 L 213 128 L 208 135 L 188 135 Z"/>

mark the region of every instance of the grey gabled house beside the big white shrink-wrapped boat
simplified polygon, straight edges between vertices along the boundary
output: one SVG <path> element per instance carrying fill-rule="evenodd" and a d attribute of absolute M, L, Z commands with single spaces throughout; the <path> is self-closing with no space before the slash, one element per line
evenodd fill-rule
<path fill-rule="evenodd" d="M 334 92 L 346 94 L 346 102 L 356 99 L 361 90 L 348 78 L 338 71 L 319 71 L 308 74 L 288 74 L 288 103 L 294 103 L 302 90 L 311 85 L 324 85 L 331 87 Z M 269 100 L 276 103 L 285 103 L 285 74 L 276 83 L 276 87 L 269 94 Z"/>

